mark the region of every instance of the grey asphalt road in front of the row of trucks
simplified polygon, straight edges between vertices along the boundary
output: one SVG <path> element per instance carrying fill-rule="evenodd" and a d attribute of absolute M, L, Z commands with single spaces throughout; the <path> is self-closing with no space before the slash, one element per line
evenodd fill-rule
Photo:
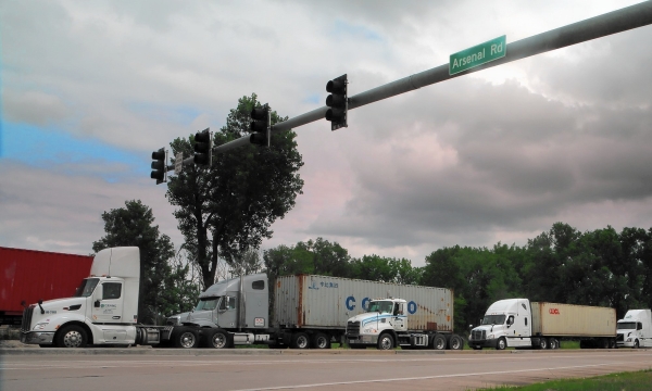
<path fill-rule="evenodd" d="M 24 351 L 1 352 L 2 390 L 469 390 L 652 368 L 652 350 Z"/>

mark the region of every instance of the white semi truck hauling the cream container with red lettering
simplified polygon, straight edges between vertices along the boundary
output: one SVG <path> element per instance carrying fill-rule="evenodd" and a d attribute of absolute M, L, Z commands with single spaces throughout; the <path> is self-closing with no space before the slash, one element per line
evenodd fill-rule
<path fill-rule="evenodd" d="M 475 350 L 559 349 L 563 339 L 579 340 L 582 349 L 616 348 L 616 310 L 528 299 L 500 300 L 471 330 L 468 345 Z"/>

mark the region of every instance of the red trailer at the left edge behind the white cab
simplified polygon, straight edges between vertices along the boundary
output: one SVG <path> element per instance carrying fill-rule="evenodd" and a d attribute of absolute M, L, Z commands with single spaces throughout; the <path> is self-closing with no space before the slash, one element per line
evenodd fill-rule
<path fill-rule="evenodd" d="M 91 264 L 89 255 L 0 247 L 0 325 L 21 325 L 22 301 L 72 297 Z"/>

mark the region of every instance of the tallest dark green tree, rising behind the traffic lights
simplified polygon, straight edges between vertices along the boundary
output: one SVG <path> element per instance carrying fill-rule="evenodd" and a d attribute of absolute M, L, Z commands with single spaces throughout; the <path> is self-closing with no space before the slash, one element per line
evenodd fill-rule
<path fill-rule="evenodd" d="M 226 125 L 214 135 L 220 146 L 250 134 L 250 113 L 261 108 L 255 93 L 238 100 Z M 275 111 L 272 124 L 286 121 Z M 184 167 L 170 178 L 166 197 L 185 238 L 185 249 L 201 273 L 203 288 L 215 282 L 218 257 L 229 265 L 272 237 L 269 226 L 294 206 L 303 165 L 291 130 L 272 136 L 269 148 L 248 144 L 213 156 L 213 165 Z M 193 136 L 177 138 L 174 154 L 193 154 Z"/>

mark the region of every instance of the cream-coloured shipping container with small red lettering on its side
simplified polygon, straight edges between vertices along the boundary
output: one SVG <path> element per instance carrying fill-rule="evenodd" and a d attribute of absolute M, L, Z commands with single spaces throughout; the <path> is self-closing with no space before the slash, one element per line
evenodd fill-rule
<path fill-rule="evenodd" d="M 532 335 L 552 337 L 615 337 L 616 310 L 609 307 L 530 303 Z"/>

